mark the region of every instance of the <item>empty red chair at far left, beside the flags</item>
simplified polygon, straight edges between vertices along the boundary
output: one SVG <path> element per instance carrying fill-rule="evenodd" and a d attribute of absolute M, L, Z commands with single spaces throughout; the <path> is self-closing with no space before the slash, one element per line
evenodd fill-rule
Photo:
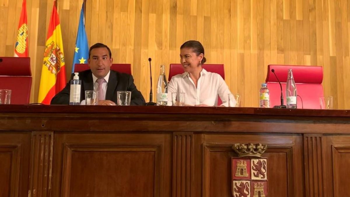
<path fill-rule="evenodd" d="M 28 104 L 31 89 L 29 57 L 0 57 L 0 89 L 10 89 L 11 104 Z"/>

